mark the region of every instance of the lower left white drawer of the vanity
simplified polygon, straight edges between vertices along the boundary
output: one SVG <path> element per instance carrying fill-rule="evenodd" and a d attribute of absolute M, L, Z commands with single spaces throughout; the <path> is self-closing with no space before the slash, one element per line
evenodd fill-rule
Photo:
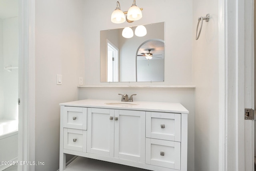
<path fill-rule="evenodd" d="M 64 149 L 86 152 L 87 131 L 64 128 Z"/>

